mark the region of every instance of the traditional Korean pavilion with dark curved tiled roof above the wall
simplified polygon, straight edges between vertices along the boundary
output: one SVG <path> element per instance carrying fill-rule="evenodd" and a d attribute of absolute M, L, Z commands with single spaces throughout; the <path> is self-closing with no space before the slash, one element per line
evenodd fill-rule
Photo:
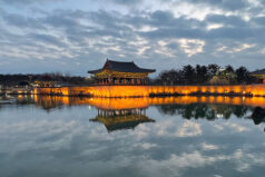
<path fill-rule="evenodd" d="M 149 73 L 155 69 L 144 69 L 135 62 L 112 61 L 107 59 L 101 69 L 90 70 L 98 85 L 146 85 Z"/>

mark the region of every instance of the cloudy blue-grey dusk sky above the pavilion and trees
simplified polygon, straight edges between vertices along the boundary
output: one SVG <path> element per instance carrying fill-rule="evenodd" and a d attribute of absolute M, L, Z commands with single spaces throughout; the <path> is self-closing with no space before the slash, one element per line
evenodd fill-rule
<path fill-rule="evenodd" d="M 0 0 L 0 73 L 265 68 L 265 0 Z"/>

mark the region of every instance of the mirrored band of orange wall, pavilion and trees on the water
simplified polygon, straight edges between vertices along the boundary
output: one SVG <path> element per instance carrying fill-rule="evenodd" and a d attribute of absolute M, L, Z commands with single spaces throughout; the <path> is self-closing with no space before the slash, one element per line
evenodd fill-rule
<path fill-rule="evenodd" d="M 1 105 L 12 104 L 13 98 L 2 98 L 2 100 L 4 101 Z M 61 109 L 63 106 L 94 106 L 98 109 L 98 115 L 90 120 L 104 124 L 108 131 L 134 129 L 141 122 L 155 121 L 146 116 L 146 109 L 150 106 L 155 106 L 163 115 L 179 115 L 185 119 L 215 120 L 218 118 L 229 119 L 235 116 L 253 119 L 255 125 L 265 121 L 264 97 L 87 98 L 19 96 L 16 100 L 17 105 L 32 104 L 47 111 Z"/>

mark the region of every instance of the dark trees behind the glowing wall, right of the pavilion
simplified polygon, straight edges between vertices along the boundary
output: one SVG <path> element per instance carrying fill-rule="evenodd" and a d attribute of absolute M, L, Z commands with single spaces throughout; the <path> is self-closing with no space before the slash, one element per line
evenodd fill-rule
<path fill-rule="evenodd" d="M 184 66 L 181 69 L 165 70 L 151 81 L 154 85 L 233 85 L 252 83 L 255 78 L 245 67 L 234 69 L 232 66 L 222 68 L 217 65 L 193 67 Z"/>

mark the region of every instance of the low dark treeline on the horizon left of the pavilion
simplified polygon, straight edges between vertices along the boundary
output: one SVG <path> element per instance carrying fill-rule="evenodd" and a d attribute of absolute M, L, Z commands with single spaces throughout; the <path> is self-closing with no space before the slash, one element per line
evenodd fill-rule
<path fill-rule="evenodd" d="M 0 85 L 2 86 L 26 86 L 35 81 L 57 81 L 70 86 L 75 85 L 91 85 L 92 79 L 79 76 L 70 76 L 69 73 L 50 72 L 40 75 L 0 75 Z"/>

